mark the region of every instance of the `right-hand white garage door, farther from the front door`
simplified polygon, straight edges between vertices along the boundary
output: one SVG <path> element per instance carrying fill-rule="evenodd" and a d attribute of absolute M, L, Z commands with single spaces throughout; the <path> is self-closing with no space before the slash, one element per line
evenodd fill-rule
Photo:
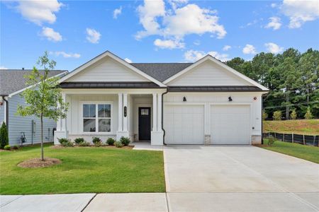
<path fill-rule="evenodd" d="M 250 144 L 250 106 L 211 106 L 212 144 Z"/>

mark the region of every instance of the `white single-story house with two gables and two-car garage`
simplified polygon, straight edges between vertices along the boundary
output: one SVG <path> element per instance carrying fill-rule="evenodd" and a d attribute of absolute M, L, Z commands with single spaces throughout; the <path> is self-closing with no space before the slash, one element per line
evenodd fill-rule
<path fill-rule="evenodd" d="M 129 64 L 104 52 L 60 79 L 69 102 L 57 138 L 167 144 L 261 143 L 268 89 L 217 59 Z"/>

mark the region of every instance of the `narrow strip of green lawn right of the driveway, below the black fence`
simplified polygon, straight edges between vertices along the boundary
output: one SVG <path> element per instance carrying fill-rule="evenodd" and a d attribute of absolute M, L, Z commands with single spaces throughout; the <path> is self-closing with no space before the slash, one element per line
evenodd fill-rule
<path fill-rule="evenodd" d="M 268 140 L 264 139 L 264 144 L 268 144 Z M 302 158 L 305 160 L 319 163 L 319 148 L 315 146 L 306 146 L 298 143 L 287 143 L 283 141 L 275 141 L 272 146 L 262 146 L 270 151 L 278 153 L 284 153 L 296 158 Z"/>

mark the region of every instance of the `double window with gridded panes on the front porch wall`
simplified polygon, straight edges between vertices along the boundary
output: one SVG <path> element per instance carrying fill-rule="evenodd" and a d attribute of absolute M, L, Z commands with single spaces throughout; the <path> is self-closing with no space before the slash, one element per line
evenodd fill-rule
<path fill-rule="evenodd" d="M 83 131 L 84 132 L 90 132 L 90 131 L 110 132 L 111 131 L 111 105 L 110 104 L 84 104 L 83 105 Z"/>

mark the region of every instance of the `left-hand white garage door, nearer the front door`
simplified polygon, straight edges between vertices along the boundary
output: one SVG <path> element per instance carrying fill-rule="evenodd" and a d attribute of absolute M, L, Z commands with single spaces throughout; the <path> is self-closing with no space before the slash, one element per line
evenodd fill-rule
<path fill-rule="evenodd" d="M 165 105 L 165 143 L 203 144 L 203 105 Z"/>

